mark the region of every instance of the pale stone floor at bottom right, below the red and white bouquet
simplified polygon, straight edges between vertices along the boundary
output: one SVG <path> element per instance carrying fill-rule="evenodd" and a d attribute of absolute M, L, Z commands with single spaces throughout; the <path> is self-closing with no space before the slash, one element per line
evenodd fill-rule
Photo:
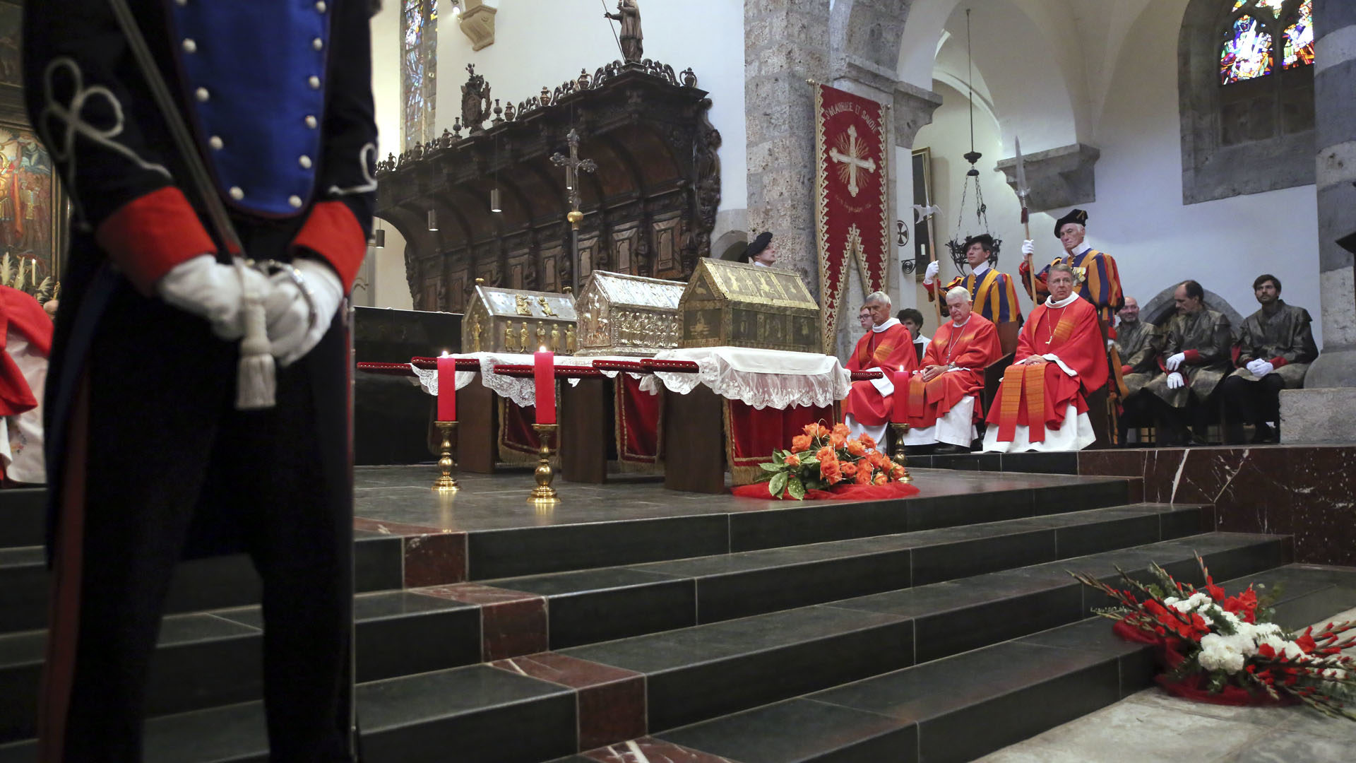
<path fill-rule="evenodd" d="M 1356 610 L 1332 620 L 1356 619 Z M 1329 620 L 1325 620 L 1329 622 Z M 1319 763 L 1356 759 L 1356 722 L 1304 707 L 1226 707 L 1147 688 L 983 763 Z"/>

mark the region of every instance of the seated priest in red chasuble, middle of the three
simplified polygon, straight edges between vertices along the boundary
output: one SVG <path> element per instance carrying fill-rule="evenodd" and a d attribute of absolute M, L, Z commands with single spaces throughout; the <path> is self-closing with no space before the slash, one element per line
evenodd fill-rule
<path fill-rule="evenodd" d="M 945 443 L 968 449 L 975 440 L 984 368 L 1003 353 L 998 329 L 972 307 L 965 286 L 946 292 L 951 320 L 933 334 L 922 367 L 909 380 L 906 445 Z"/>

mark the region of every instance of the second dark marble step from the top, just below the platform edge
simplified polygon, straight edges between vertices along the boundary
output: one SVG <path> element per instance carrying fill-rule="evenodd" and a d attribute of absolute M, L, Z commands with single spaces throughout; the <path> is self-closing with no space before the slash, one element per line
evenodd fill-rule
<path fill-rule="evenodd" d="M 1135 505 L 663 565 L 359 595 L 358 679 L 734 619 L 1193 535 L 1200 506 Z M 258 607 L 171 615 L 148 713 L 254 699 Z M 0 741 L 31 733 L 45 631 L 0 635 Z M 433 639 L 433 641 L 430 641 Z M 392 645 L 401 649 L 392 649 Z M 437 656 L 428 653 L 437 644 Z M 229 667 L 229 669 L 224 669 Z"/>

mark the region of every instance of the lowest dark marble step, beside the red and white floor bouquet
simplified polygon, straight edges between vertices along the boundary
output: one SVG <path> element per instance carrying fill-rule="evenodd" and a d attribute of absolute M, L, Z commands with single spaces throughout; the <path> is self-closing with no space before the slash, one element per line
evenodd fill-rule
<path fill-rule="evenodd" d="M 1287 565 L 1224 582 L 1280 584 L 1290 629 L 1356 607 L 1356 570 Z M 1314 611 L 1322 611 L 1313 616 Z M 643 740 L 730 763 L 960 762 L 1029 739 L 1153 684 L 1153 650 L 1102 618 L 693 724 Z M 557 763 L 621 762 L 612 745 Z"/>

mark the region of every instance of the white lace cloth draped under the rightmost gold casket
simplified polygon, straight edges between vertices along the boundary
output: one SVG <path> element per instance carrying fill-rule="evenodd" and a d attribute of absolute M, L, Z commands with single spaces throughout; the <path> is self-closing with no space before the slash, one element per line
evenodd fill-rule
<path fill-rule="evenodd" d="M 659 371 L 640 382 L 640 388 L 654 392 L 658 384 L 686 395 L 705 384 L 730 401 L 755 409 L 785 410 L 793 406 L 831 406 L 848 396 L 852 373 L 837 357 L 785 350 L 750 348 L 692 348 L 663 350 L 655 360 L 689 360 L 697 373 Z"/>

